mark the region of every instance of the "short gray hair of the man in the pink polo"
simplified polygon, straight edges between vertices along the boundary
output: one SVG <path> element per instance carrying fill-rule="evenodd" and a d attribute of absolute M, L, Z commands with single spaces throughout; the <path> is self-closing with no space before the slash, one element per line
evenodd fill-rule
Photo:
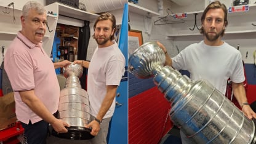
<path fill-rule="evenodd" d="M 46 13 L 46 9 L 44 8 L 44 6 L 42 6 L 42 4 L 36 1 L 28 1 L 22 8 L 23 17 L 28 17 L 28 12 L 30 11 L 30 9 L 35 9 L 36 12 L 38 12 L 38 14 L 40 15 Z"/>

